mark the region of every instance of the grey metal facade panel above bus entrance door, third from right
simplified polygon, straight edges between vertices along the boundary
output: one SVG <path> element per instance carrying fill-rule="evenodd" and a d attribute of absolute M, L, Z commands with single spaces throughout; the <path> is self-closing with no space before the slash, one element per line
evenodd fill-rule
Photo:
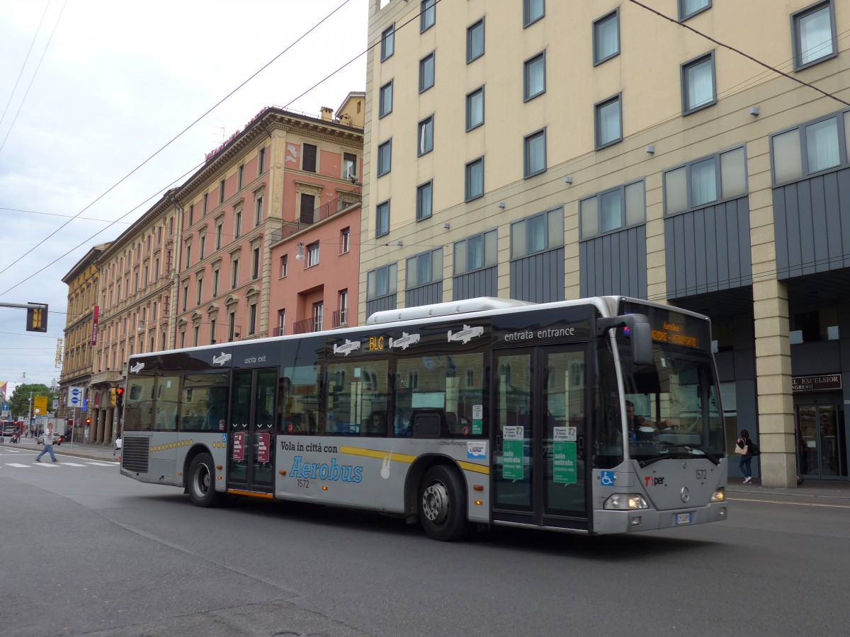
<path fill-rule="evenodd" d="M 645 299 L 646 227 L 626 228 L 581 241 L 579 267 L 581 296 L 614 294 Z"/>

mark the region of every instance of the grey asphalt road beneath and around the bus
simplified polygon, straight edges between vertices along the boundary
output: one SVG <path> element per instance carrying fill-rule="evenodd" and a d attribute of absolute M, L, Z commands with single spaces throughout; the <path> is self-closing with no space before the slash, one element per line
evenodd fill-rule
<path fill-rule="evenodd" d="M 69 450 L 36 465 L 30 449 L 0 448 L 4 635 L 749 637 L 842 633 L 850 620 L 843 485 L 738 486 L 714 525 L 605 538 L 501 528 L 445 544 L 369 513 L 201 510 L 119 476 L 111 450 Z"/>

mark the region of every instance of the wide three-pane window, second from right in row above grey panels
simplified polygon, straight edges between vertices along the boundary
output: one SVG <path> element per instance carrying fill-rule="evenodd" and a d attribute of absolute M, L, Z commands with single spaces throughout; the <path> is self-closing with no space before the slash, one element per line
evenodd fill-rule
<path fill-rule="evenodd" d="M 746 194 L 743 146 L 701 157 L 664 173 L 665 214 L 699 208 Z"/>

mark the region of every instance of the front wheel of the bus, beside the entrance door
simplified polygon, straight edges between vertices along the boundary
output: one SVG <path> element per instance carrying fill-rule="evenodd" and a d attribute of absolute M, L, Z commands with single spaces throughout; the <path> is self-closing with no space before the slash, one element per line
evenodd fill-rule
<path fill-rule="evenodd" d="M 466 492 L 456 471 L 434 465 L 425 472 L 419 488 L 419 521 L 428 537 L 440 542 L 467 533 Z"/>

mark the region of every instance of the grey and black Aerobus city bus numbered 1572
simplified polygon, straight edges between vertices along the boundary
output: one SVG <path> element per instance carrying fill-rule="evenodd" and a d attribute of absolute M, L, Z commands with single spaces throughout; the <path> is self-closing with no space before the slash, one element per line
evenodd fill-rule
<path fill-rule="evenodd" d="M 372 510 L 438 540 L 727 516 L 710 321 L 621 296 L 484 297 L 136 354 L 123 419 L 122 474 L 201 507 Z"/>

